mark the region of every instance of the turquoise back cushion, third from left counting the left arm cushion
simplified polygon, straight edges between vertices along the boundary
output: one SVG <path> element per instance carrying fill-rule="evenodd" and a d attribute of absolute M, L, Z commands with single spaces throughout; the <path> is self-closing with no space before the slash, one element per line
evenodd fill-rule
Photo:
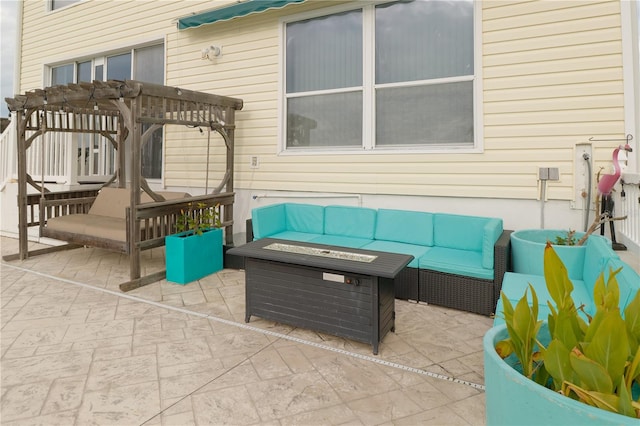
<path fill-rule="evenodd" d="M 367 207 L 327 206 L 324 208 L 324 233 L 343 237 L 373 239 L 376 211 Z"/>

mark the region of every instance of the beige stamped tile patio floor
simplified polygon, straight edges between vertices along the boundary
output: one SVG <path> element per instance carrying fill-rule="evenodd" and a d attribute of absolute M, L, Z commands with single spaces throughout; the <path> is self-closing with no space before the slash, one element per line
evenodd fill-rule
<path fill-rule="evenodd" d="M 142 264 L 164 268 L 163 249 Z M 0 264 L 2 425 L 484 424 L 487 317 L 396 301 L 373 356 L 245 324 L 242 271 L 125 294 L 128 269 L 92 248 Z"/>

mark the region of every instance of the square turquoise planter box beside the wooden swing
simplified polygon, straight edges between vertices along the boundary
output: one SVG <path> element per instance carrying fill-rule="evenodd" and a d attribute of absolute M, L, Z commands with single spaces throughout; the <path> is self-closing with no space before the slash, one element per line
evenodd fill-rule
<path fill-rule="evenodd" d="M 202 235 L 187 232 L 165 238 L 167 281 L 187 284 L 222 269 L 222 229 Z"/>

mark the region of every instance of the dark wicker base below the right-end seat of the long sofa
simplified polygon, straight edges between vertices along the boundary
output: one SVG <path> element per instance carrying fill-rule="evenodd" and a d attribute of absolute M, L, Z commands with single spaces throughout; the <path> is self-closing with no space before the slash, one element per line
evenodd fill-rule
<path fill-rule="evenodd" d="M 421 269 L 418 288 L 420 302 L 482 315 L 495 310 L 492 280 Z"/>

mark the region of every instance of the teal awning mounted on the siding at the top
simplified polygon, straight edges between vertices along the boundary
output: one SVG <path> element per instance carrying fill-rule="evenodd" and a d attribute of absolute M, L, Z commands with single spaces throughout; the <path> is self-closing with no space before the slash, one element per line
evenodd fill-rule
<path fill-rule="evenodd" d="M 269 9 L 281 9 L 294 3 L 302 3 L 305 0 L 246 0 L 239 3 L 231 3 L 208 12 L 197 13 L 178 19 L 178 29 L 197 28 L 206 24 L 219 21 L 228 21 L 252 13 L 260 13 Z"/>

